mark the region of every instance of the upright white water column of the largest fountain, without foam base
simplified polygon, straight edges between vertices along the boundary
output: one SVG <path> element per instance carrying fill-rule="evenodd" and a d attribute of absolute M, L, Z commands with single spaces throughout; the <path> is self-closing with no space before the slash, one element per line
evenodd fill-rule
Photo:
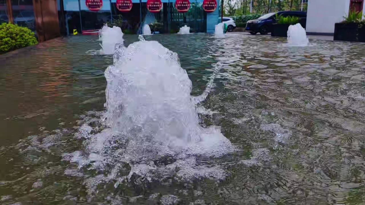
<path fill-rule="evenodd" d="M 105 70 L 108 124 L 123 134 L 138 127 L 170 147 L 200 142 L 196 97 L 190 96 L 192 83 L 177 54 L 143 39 L 120 51 L 118 62 Z"/>

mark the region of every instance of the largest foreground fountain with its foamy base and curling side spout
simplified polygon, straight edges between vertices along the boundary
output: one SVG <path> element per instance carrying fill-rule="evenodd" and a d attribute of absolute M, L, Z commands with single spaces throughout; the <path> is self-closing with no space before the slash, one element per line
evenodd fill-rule
<path fill-rule="evenodd" d="M 78 163 L 80 170 L 106 174 L 87 179 L 97 182 L 93 187 L 108 182 L 117 187 L 132 175 L 147 181 L 161 181 L 161 176 L 182 181 L 225 178 L 219 164 L 204 164 L 199 158 L 222 156 L 233 146 L 219 127 L 201 127 L 196 111 L 222 63 L 217 63 L 205 91 L 191 96 L 192 82 L 177 54 L 142 35 L 139 39 L 128 47 L 116 45 L 114 65 L 105 70 L 105 129 L 92 135 L 80 129 L 77 137 L 84 135 L 87 154 L 76 151 L 64 158 Z"/>

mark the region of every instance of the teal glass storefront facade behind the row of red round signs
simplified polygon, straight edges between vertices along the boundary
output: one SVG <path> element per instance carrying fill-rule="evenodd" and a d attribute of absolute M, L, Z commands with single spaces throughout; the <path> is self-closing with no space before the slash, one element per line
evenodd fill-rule
<path fill-rule="evenodd" d="M 191 32 L 213 33 L 220 22 L 219 1 L 209 13 L 203 9 L 203 0 L 189 0 L 189 10 L 184 13 L 177 11 L 175 0 L 161 0 L 161 10 L 154 13 L 147 9 L 147 0 L 131 0 L 132 7 L 127 12 L 119 11 L 117 0 L 97 0 L 102 1 L 97 10 L 90 9 L 87 1 L 93 0 L 57 0 L 62 34 L 72 35 L 75 30 L 78 34 L 92 34 L 105 23 L 121 27 L 126 34 L 141 34 L 144 24 L 149 24 L 155 33 L 176 33 L 184 25 Z"/>

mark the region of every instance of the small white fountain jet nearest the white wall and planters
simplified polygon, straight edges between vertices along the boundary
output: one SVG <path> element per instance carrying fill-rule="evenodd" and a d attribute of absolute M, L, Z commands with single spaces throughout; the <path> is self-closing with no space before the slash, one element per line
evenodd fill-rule
<path fill-rule="evenodd" d="M 306 30 L 301 27 L 300 23 L 290 25 L 288 28 L 288 43 L 290 46 L 307 46 L 309 40 Z"/>

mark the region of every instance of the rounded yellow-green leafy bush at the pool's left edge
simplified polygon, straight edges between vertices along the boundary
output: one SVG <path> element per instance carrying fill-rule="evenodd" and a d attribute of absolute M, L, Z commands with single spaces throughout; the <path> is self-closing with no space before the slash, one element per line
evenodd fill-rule
<path fill-rule="evenodd" d="M 29 28 L 11 23 L 0 24 L 0 53 L 6 53 L 37 43 L 34 32 Z"/>

